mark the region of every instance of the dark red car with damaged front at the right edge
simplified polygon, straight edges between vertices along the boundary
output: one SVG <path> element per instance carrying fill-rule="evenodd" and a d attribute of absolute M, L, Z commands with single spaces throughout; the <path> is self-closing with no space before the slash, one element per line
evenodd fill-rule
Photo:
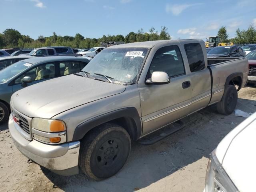
<path fill-rule="evenodd" d="M 256 50 L 251 51 L 245 58 L 248 59 L 249 63 L 248 82 L 256 86 Z"/>

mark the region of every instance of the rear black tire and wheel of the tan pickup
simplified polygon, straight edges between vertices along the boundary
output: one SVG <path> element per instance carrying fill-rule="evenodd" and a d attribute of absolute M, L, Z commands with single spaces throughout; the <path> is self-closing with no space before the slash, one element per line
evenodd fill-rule
<path fill-rule="evenodd" d="M 217 103 L 217 111 L 223 115 L 230 115 L 236 108 L 237 90 L 233 85 L 225 86 L 224 94 Z"/>

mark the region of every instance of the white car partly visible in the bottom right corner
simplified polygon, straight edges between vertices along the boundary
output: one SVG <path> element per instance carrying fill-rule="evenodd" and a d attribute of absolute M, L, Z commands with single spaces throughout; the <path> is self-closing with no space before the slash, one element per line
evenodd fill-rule
<path fill-rule="evenodd" d="M 212 152 L 205 192 L 255 191 L 256 113 L 234 128 Z"/>

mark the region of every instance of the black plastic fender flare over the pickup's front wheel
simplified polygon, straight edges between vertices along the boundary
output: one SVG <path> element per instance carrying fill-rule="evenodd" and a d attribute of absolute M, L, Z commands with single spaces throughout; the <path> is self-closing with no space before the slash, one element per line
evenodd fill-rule
<path fill-rule="evenodd" d="M 141 119 L 136 108 L 128 107 L 108 112 L 78 125 L 74 131 L 73 141 L 81 140 L 86 133 L 96 126 L 106 122 L 113 122 L 114 120 L 118 120 L 120 118 L 124 118 L 124 122 L 120 123 L 127 125 L 124 128 L 130 134 L 132 140 L 138 140 L 142 134 Z"/>

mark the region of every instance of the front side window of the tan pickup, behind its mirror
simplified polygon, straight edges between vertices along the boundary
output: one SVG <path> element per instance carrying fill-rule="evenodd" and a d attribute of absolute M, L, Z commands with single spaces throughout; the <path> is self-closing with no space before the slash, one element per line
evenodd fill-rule
<path fill-rule="evenodd" d="M 170 77 L 185 74 L 184 64 L 178 46 L 166 46 L 157 50 L 150 64 L 148 78 L 154 71 L 166 72 Z"/>

